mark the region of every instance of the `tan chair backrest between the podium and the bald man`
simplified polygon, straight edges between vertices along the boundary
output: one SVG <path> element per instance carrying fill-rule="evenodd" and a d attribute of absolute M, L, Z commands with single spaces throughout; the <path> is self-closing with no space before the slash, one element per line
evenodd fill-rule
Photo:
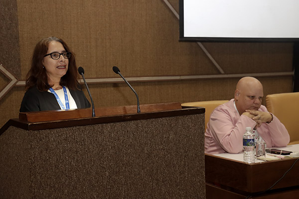
<path fill-rule="evenodd" d="M 186 102 L 182 103 L 183 106 L 190 106 L 190 107 L 204 107 L 205 114 L 204 114 L 204 131 L 207 129 L 207 123 L 209 122 L 210 116 L 212 111 L 220 104 L 228 102 L 228 100 L 211 100 L 211 101 L 195 101 L 195 102 Z"/>

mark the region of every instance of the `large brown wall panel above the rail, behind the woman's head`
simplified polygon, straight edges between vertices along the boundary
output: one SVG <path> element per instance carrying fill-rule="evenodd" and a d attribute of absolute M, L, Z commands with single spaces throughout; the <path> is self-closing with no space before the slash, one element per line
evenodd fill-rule
<path fill-rule="evenodd" d="M 196 43 L 178 42 L 162 1 L 18 0 L 18 9 L 23 79 L 35 44 L 50 35 L 69 44 L 87 78 L 114 77 L 114 65 L 131 77 L 217 73 Z"/>

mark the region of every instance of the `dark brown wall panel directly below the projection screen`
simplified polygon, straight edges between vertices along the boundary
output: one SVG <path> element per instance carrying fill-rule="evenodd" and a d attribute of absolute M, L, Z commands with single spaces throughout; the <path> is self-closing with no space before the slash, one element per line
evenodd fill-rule
<path fill-rule="evenodd" d="M 205 43 L 226 74 L 293 71 L 293 43 Z"/>

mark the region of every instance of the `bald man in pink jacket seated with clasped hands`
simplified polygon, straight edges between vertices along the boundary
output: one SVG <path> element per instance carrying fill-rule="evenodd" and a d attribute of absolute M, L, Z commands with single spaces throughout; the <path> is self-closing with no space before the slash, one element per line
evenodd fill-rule
<path fill-rule="evenodd" d="M 284 147 L 290 135 L 280 120 L 262 105 L 263 86 L 253 77 L 241 78 L 235 98 L 216 107 L 211 113 L 205 132 L 205 153 L 240 153 L 243 134 L 251 127 L 256 140 L 267 147 Z"/>

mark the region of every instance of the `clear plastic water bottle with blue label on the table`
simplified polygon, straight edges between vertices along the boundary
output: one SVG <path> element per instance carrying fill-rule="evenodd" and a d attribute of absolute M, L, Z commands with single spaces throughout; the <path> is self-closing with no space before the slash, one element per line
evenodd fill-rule
<path fill-rule="evenodd" d="M 254 134 L 251 133 L 251 127 L 246 127 L 245 130 L 246 132 L 243 135 L 243 160 L 247 163 L 255 163 Z"/>

